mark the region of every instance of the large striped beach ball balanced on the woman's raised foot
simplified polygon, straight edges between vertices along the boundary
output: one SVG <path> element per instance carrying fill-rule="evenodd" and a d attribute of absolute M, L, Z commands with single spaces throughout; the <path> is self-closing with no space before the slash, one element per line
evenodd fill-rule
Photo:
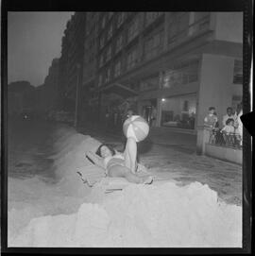
<path fill-rule="evenodd" d="M 136 142 L 141 142 L 147 137 L 149 126 L 140 115 L 132 115 L 124 122 L 123 132 L 127 138 L 133 137 Z"/>

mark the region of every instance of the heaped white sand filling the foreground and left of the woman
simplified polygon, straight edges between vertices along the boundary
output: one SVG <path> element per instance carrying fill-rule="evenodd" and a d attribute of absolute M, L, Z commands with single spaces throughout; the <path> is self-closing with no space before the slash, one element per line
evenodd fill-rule
<path fill-rule="evenodd" d="M 62 129 L 57 136 L 56 184 L 10 180 L 9 247 L 242 247 L 242 208 L 218 202 L 198 182 L 129 184 L 104 194 L 76 177 L 90 169 L 85 152 L 99 143 Z"/>

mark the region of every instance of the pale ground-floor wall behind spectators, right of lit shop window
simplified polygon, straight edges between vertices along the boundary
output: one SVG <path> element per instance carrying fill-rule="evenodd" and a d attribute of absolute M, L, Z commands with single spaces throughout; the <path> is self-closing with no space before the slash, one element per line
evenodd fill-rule
<path fill-rule="evenodd" d="M 209 107 L 215 107 L 219 120 L 232 104 L 234 59 L 204 54 L 201 60 L 197 126 L 203 126 Z M 240 87 L 241 85 L 239 85 Z"/>

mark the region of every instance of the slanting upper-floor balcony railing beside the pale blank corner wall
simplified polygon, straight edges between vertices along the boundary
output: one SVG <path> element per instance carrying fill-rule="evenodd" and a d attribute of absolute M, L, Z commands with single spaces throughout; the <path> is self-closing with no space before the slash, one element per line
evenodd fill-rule
<path fill-rule="evenodd" d="M 168 47 L 172 48 L 179 43 L 189 40 L 191 37 L 197 36 L 210 28 L 210 15 L 203 17 L 194 24 L 187 26 L 183 30 L 168 39 Z"/>

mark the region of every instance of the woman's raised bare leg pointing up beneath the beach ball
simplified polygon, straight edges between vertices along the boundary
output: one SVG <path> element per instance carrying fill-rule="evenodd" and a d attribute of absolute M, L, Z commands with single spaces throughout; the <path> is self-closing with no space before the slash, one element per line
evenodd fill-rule
<path fill-rule="evenodd" d="M 136 141 L 132 137 L 127 138 L 127 143 L 124 151 L 125 158 L 125 166 L 131 171 L 131 173 L 135 173 L 137 167 L 137 145 Z"/>

